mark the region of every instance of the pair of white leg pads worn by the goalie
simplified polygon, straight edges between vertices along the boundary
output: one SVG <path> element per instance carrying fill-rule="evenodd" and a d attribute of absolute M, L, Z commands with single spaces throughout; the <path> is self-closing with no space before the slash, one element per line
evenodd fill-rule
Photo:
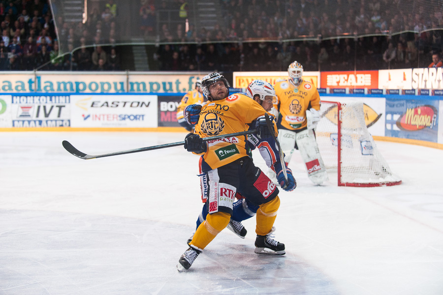
<path fill-rule="evenodd" d="M 297 142 L 298 150 L 305 163 L 309 179 L 315 184 L 321 184 L 328 180 L 326 168 L 321 159 L 320 152 L 318 151 L 318 145 L 312 129 L 300 131 L 298 133 L 281 129 L 279 130 L 278 140 L 285 153 L 286 164 L 290 162 L 292 153 L 294 152 L 295 142 Z"/>

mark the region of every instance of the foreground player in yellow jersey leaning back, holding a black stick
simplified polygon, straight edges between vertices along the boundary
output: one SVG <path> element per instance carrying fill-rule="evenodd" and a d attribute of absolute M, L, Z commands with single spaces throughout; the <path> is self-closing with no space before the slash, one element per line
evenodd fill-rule
<path fill-rule="evenodd" d="M 179 271 L 189 269 L 203 249 L 226 228 L 237 192 L 259 206 L 256 213 L 257 237 L 254 252 L 285 254 L 285 245 L 270 236 L 280 206 L 279 190 L 253 164 L 246 149 L 247 136 L 208 142 L 202 140 L 203 137 L 247 131 L 251 125 L 257 130 L 259 138 L 271 137 L 271 132 L 277 133 L 272 115 L 273 128 L 270 130 L 264 116 L 267 112 L 263 107 L 244 94 L 228 96 L 228 88 L 228 81 L 219 73 L 203 77 L 202 90 L 209 101 L 201 109 L 195 133 L 190 133 L 185 138 L 185 149 L 202 156 L 202 173 L 208 179 L 206 197 L 209 214 L 195 231 L 190 248 L 180 257 L 177 264 Z"/>

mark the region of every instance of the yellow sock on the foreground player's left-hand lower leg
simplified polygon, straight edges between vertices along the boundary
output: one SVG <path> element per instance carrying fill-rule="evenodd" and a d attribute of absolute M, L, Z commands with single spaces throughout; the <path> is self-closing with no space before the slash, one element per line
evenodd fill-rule
<path fill-rule="evenodd" d="M 230 218 L 231 215 L 224 212 L 208 214 L 206 221 L 195 231 L 190 245 L 204 249 L 222 229 L 226 228 Z"/>

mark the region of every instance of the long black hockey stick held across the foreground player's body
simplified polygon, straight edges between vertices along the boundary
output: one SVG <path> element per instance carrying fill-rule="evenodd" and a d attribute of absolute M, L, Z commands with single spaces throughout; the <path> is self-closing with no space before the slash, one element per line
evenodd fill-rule
<path fill-rule="evenodd" d="M 204 137 L 203 142 L 210 141 L 210 140 L 217 140 L 217 139 L 223 139 L 227 137 L 233 137 L 233 136 L 241 136 L 241 135 L 247 135 L 247 134 L 253 134 L 256 133 L 256 130 L 248 130 L 248 131 L 242 131 L 237 133 L 230 133 L 230 134 L 221 134 L 216 136 L 210 136 L 210 137 Z M 102 154 L 102 155 L 88 155 L 85 153 L 80 152 L 77 150 L 72 144 L 70 144 L 68 141 L 63 140 L 62 145 L 66 151 L 71 153 L 72 155 L 80 158 L 80 159 L 95 159 L 95 158 L 103 158 L 103 157 L 110 157 L 110 156 L 117 156 L 117 155 L 125 155 L 125 154 L 131 154 L 131 153 L 138 153 L 138 152 L 144 152 L 144 151 L 151 151 L 151 150 L 158 150 L 163 149 L 167 147 L 173 147 L 173 146 L 179 146 L 184 145 L 185 141 L 180 142 L 173 142 L 173 143 L 166 143 L 166 144 L 160 144 L 155 146 L 148 146 L 144 148 L 134 149 L 134 150 L 127 150 L 122 152 L 115 152 L 115 153 L 109 153 L 109 154 Z"/>

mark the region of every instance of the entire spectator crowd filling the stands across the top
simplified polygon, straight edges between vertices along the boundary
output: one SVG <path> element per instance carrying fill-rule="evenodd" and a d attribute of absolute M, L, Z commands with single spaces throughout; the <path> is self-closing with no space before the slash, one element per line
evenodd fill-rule
<path fill-rule="evenodd" d="M 405 14 L 401 9 L 392 14 L 392 9 L 387 9 L 411 1 L 371 1 L 364 4 L 365 8 L 369 7 L 367 10 L 361 10 L 365 3 L 361 0 L 216 2 L 223 7 L 222 22 L 229 24 L 229 30 L 221 30 L 217 23 L 212 27 L 195 28 L 195 20 L 190 14 L 190 9 L 195 8 L 192 6 L 194 2 L 140 0 L 136 4 L 127 3 L 135 5 L 129 8 L 138 10 L 138 15 L 135 14 L 134 19 L 128 22 L 135 26 L 132 31 L 127 28 L 128 33 L 141 33 L 146 40 L 157 36 L 157 41 L 162 44 L 157 47 L 150 45 L 156 51 L 151 69 L 280 71 L 294 60 L 300 62 L 305 70 L 409 68 L 428 66 L 432 55 L 442 51 L 443 31 L 425 31 L 443 27 L 441 12 L 435 12 L 423 20 L 418 14 Z M 346 5 L 350 10 L 344 14 L 337 8 L 341 5 Z M 259 10 L 247 9 L 258 6 Z M 90 1 L 89 31 L 85 32 L 81 23 L 63 22 L 62 17 L 57 18 L 56 28 L 48 0 L 0 0 L 0 70 L 127 69 L 120 59 L 122 54 L 127 53 L 119 52 L 120 47 L 112 45 L 116 43 L 116 31 L 122 27 L 122 18 L 119 18 L 121 7 L 121 2 L 115 0 Z M 321 13 L 315 7 L 321 7 Z M 244 15 L 242 11 L 249 12 Z M 160 22 L 161 17 L 158 16 L 166 18 Z M 332 21 L 338 16 L 346 19 L 346 22 L 341 22 L 345 26 Z M 190 22 L 185 30 L 183 19 L 188 17 Z M 291 25 L 288 25 L 289 20 Z M 392 31 L 393 27 L 396 31 L 423 33 L 388 36 L 387 32 Z M 353 32 L 380 35 L 344 37 Z M 322 35 L 330 34 L 342 38 L 321 39 Z M 61 40 L 67 40 L 68 50 L 63 52 L 73 53 L 59 55 L 58 36 Z M 300 36 L 316 38 L 283 41 Z M 258 39 L 274 41 L 254 42 Z"/>

